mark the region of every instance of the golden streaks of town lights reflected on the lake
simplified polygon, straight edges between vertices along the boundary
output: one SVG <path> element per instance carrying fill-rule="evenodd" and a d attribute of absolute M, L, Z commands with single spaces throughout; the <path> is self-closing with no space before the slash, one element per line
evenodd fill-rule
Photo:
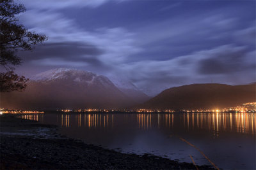
<path fill-rule="evenodd" d="M 70 115 L 74 115 L 74 121 L 70 122 Z M 239 132 L 255 135 L 256 117 L 252 113 L 170 113 L 170 114 L 127 114 L 132 118 L 136 117 L 136 125 L 139 129 L 169 127 L 173 128 L 175 115 L 183 117 L 179 124 L 184 125 L 184 129 L 195 131 L 205 129 L 212 131 L 214 136 L 219 136 L 219 131 Z M 61 115 L 61 119 L 59 117 Z M 121 114 L 124 115 L 124 114 Z M 115 127 L 117 114 L 59 114 L 57 122 L 61 122 L 61 127 Z M 44 115 L 22 115 L 22 118 L 44 122 Z M 58 121 L 59 120 L 59 121 Z M 181 122 L 180 122 L 181 120 Z"/>

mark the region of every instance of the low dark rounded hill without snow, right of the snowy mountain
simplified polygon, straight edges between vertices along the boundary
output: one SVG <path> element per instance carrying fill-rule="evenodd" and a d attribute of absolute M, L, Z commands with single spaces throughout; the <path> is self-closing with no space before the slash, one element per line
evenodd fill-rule
<path fill-rule="evenodd" d="M 192 84 L 166 89 L 139 108 L 216 109 L 256 101 L 256 84 Z"/>

